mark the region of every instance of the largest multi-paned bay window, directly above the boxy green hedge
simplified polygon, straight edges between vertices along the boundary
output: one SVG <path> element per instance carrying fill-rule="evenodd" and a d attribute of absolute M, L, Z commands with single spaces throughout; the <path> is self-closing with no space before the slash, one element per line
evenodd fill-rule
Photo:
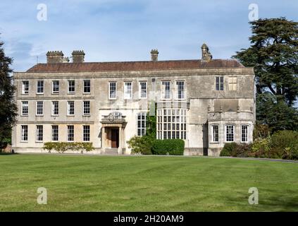
<path fill-rule="evenodd" d="M 187 137 L 186 109 L 158 109 L 157 110 L 157 138 L 184 139 Z"/>

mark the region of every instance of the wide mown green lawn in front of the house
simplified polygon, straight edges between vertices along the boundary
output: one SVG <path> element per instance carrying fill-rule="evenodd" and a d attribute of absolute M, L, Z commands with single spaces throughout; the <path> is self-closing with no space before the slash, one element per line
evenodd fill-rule
<path fill-rule="evenodd" d="M 0 211 L 298 210 L 298 164 L 211 157 L 0 155 Z M 259 189 L 259 205 L 248 190 Z M 47 205 L 37 204 L 45 187 Z"/>

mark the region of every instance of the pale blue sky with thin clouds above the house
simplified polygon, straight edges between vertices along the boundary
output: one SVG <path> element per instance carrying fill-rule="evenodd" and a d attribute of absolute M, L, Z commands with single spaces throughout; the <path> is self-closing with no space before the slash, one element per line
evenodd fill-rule
<path fill-rule="evenodd" d="M 0 4 L 0 40 L 14 71 L 46 61 L 48 50 L 70 57 L 84 49 L 85 61 L 143 61 L 159 49 L 159 60 L 199 59 L 203 42 L 214 59 L 229 59 L 249 46 L 249 4 L 260 18 L 298 20 L 298 1 L 266 0 L 52 0 Z M 47 20 L 37 20 L 46 4 Z"/>

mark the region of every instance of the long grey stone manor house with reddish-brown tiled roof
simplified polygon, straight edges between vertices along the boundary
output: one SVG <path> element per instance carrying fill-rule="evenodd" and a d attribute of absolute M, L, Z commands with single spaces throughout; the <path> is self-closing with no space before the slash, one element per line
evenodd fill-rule
<path fill-rule="evenodd" d="M 252 142 L 254 71 L 236 60 L 85 62 L 83 51 L 47 52 L 46 64 L 13 73 L 18 121 L 15 152 L 45 152 L 44 142 L 92 142 L 92 153 L 130 154 L 156 106 L 158 139 L 181 138 L 185 155 L 219 155 L 229 142 Z"/>

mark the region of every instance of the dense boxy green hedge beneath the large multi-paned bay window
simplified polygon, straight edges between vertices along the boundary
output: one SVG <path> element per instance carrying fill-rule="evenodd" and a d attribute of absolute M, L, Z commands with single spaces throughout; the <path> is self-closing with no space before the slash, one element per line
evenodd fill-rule
<path fill-rule="evenodd" d="M 183 155 L 184 141 L 181 139 L 156 140 L 152 144 L 154 155 Z"/>

